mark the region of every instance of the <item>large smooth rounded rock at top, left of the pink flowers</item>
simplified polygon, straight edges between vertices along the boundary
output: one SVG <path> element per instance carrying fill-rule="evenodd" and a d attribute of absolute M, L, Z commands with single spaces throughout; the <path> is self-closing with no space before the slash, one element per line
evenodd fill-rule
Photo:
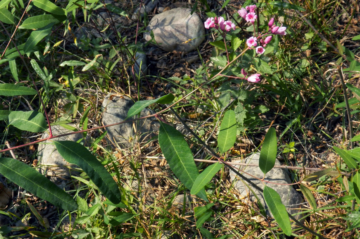
<path fill-rule="evenodd" d="M 155 41 L 164 51 L 194 50 L 205 39 L 205 28 L 199 16 L 190 13 L 190 8 L 174 8 L 157 14 L 146 28 L 148 32 L 144 33 L 145 40 L 151 40 L 152 31 Z M 192 40 L 187 42 L 189 39 Z"/>

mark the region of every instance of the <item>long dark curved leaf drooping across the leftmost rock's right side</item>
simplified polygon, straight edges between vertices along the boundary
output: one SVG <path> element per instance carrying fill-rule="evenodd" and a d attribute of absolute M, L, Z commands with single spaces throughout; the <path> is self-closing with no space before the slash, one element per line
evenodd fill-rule
<path fill-rule="evenodd" d="M 121 194 L 117 183 L 105 167 L 84 146 L 73 141 L 54 141 L 59 154 L 69 163 L 76 164 L 89 176 L 111 202 L 119 203 Z"/>

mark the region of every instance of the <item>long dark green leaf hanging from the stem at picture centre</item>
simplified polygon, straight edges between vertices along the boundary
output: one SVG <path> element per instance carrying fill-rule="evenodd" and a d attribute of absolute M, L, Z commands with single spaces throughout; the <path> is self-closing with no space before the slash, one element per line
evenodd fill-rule
<path fill-rule="evenodd" d="M 199 171 L 184 136 L 174 127 L 160 122 L 159 145 L 172 172 L 186 188 L 191 189 Z M 197 195 L 208 201 L 205 189 Z"/>

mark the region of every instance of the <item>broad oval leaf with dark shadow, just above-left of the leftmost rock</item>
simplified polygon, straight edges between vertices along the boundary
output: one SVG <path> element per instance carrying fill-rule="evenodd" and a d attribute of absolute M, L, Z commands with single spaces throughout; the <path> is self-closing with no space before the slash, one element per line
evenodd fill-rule
<path fill-rule="evenodd" d="M 46 130 L 45 118 L 37 111 L 13 111 L 9 114 L 9 125 L 30 132 L 42 132 Z"/>

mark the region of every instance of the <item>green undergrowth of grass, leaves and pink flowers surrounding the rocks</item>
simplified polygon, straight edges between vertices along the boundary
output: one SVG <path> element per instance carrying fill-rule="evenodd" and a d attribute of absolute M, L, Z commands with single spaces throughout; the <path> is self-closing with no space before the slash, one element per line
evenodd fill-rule
<path fill-rule="evenodd" d="M 145 42 L 158 12 L 134 14 L 143 2 L 0 1 L 0 238 L 359 238 L 359 3 L 162 5 L 201 17 L 197 50 Z M 108 141 L 109 93 L 135 102 L 114 123 L 151 108 L 158 136 Z M 56 141 L 55 126 L 82 138 Z M 39 144 L 77 165 L 66 187 Z M 240 196 L 229 171 L 249 179 L 230 162 L 258 151 L 258 180 L 275 159 L 291 173 L 300 218 L 271 183 L 273 217 Z"/>

